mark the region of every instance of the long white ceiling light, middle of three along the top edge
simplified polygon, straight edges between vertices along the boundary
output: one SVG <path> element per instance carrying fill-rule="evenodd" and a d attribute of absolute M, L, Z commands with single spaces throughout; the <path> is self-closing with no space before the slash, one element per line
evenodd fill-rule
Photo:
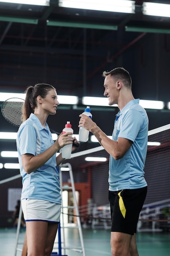
<path fill-rule="evenodd" d="M 60 7 L 135 13 L 135 1 L 129 0 L 59 0 Z"/>

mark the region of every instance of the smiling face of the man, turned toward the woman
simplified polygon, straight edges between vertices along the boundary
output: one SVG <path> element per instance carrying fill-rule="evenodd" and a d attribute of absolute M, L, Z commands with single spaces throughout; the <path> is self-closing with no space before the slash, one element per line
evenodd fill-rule
<path fill-rule="evenodd" d="M 119 90 L 117 89 L 116 81 L 109 74 L 104 79 L 104 96 L 108 97 L 108 105 L 117 104 L 119 98 Z"/>

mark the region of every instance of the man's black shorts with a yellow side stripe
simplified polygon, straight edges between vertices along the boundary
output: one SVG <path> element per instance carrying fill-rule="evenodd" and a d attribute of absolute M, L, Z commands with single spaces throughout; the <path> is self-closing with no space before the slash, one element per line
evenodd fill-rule
<path fill-rule="evenodd" d="M 112 219 L 112 232 L 134 235 L 137 222 L 147 193 L 147 186 L 141 189 L 109 191 L 108 200 Z"/>

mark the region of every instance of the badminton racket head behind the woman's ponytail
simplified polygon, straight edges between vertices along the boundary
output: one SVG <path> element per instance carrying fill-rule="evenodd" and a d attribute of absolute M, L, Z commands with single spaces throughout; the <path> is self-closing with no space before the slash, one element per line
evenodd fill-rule
<path fill-rule="evenodd" d="M 5 120 L 13 126 L 20 126 L 22 124 L 22 108 L 24 99 L 9 98 L 2 103 L 1 112 Z"/>

